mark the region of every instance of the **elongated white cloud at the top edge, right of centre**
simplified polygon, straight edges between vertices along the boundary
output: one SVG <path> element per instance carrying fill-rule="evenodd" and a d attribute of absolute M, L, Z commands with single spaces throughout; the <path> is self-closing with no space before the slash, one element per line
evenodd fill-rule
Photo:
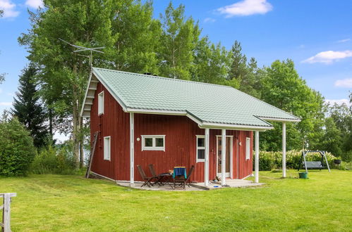
<path fill-rule="evenodd" d="M 226 15 L 226 18 L 255 14 L 263 15 L 272 11 L 272 4 L 269 4 L 267 0 L 243 0 L 236 2 L 236 4 L 218 8 L 217 11 Z"/>

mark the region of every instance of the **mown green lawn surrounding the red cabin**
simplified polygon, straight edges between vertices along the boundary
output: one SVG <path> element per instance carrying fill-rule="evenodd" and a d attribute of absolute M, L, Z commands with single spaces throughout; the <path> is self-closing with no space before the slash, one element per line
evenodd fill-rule
<path fill-rule="evenodd" d="M 0 178 L 16 192 L 13 231 L 351 231 L 352 172 L 281 179 L 260 172 L 260 188 L 139 191 L 82 176 Z"/>

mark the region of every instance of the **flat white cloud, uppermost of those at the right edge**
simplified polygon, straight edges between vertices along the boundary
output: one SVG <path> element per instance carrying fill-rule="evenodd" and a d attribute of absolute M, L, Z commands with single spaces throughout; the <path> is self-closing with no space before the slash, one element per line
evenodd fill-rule
<path fill-rule="evenodd" d="M 306 60 L 303 60 L 302 63 L 325 63 L 329 64 L 336 60 L 348 58 L 352 56 L 351 50 L 346 51 L 322 51 L 317 53 L 317 55 L 312 56 Z"/>

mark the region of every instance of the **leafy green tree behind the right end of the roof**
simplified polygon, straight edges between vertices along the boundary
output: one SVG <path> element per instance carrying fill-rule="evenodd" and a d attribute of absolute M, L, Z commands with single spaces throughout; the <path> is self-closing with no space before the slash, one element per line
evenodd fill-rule
<path fill-rule="evenodd" d="M 319 149 L 319 140 L 324 122 L 324 98 L 308 87 L 294 67 L 292 60 L 276 60 L 266 68 L 267 75 L 262 80 L 262 100 L 301 118 L 298 124 L 287 124 L 288 149 L 301 149 L 303 142 L 310 149 Z M 267 150 L 279 150 L 281 127 L 263 133 Z"/>

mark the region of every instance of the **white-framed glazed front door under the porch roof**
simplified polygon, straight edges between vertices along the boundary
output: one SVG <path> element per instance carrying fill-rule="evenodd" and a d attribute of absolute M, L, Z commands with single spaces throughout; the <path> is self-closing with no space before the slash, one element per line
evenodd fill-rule
<path fill-rule="evenodd" d="M 225 176 L 232 176 L 232 144 L 233 137 L 226 136 L 226 164 L 225 164 Z M 217 176 L 221 176 L 221 167 L 222 167 L 222 159 L 221 159 L 221 136 L 217 136 Z"/>

